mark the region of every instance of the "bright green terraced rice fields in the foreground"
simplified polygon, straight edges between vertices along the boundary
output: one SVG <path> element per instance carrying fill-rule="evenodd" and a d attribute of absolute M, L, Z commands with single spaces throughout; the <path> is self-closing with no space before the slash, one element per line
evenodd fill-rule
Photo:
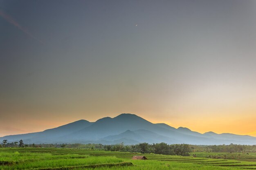
<path fill-rule="evenodd" d="M 0 170 L 239 170 L 256 169 L 256 155 L 197 152 L 197 157 L 111 152 L 86 149 L 1 148 Z M 226 154 L 226 159 L 209 159 Z M 144 155 L 148 160 L 131 160 Z M 245 161 L 245 160 L 250 161 Z"/>

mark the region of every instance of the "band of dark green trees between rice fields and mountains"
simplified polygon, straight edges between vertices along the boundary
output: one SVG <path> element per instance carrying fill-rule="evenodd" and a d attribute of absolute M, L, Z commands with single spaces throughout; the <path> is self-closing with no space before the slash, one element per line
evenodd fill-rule
<path fill-rule="evenodd" d="M 19 142 L 8 143 L 3 140 L 0 148 L 13 148 L 13 147 L 43 147 L 43 148 L 87 148 L 106 151 L 119 151 L 119 152 L 140 152 L 140 153 L 155 153 L 162 155 L 180 155 L 189 156 L 193 152 L 256 152 L 256 145 L 189 145 L 189 144 L 171 144 L 166 143 L 148 144 L 141 143 L 136 145 L 102 145 L 102 144 L 24 144 L 22 140 Z"/>

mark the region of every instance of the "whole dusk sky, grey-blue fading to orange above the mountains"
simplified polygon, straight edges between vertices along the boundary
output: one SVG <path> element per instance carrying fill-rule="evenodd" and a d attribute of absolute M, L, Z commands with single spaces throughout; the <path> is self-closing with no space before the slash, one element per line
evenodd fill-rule
<path fill-rule="evenodd" d="M 255 0 L 0 0 L 0 136 L 121 113 L 256 136 L 255 9 Z"/>

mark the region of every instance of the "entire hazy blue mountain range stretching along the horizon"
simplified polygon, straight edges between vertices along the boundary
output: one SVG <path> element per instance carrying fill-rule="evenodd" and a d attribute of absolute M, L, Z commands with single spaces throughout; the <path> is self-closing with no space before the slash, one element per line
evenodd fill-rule
<path fill-rule="evenodd" d="M 189 128 L 173 128 L 167 124 L 153 124 L 137 115 L 121 114 L 117 117 L 104 117 L 95 122 L 79 120 L 47 129 L 43 132 L 35 132 L 21 135 L 9 135 L 0 137 L 0 141 L 19 141 L 25 143 L 100 143 L 100 144 L 125 144 L 161 143 L 167 144 L 256 144 L 256 137 L 249 135 L 234 135 L 230 133 L 217 134 L 206 132 L 204 134 L 190 130 Z"/>

